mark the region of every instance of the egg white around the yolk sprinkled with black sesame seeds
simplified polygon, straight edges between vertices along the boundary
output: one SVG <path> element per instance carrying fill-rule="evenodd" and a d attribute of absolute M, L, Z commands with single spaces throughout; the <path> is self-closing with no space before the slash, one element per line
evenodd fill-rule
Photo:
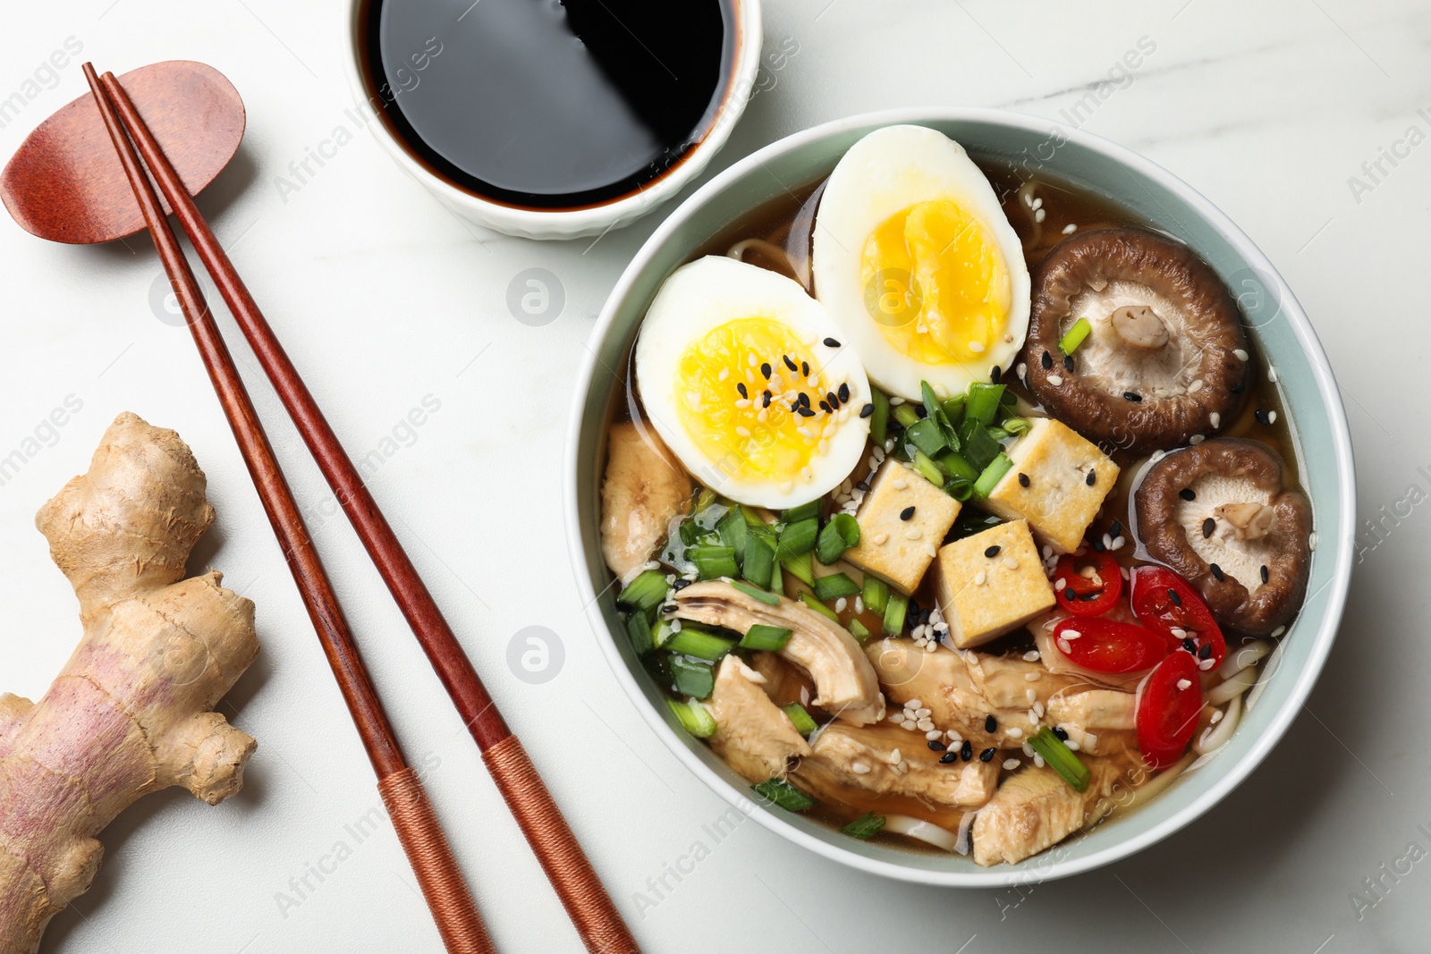
<path fill-rule="evenodd" d="M 750 479 L 731 473 L 733 468 L 713 461 L 681 423 L 678 402 L 685 400 L 677 375 L 681 356 L 713 329 L 756 316 L 788 328 L 804 343 L 826 380 L 850 385 L 850 399 L 841 408 L 849 413 L 844 421 L 836 422 L 826 453 L 810 459 L 809 479 L 798 475 L 791 481 Z M 839 340 L 840 346 L 831 348 L 824 343 L 826 339 Z M 778 355 L 770 356 L 773 363 L 778 359 Z M 733 396 L 744 370 L 731 368 Z M 870 385 L 854 349 L 798 283 L 754 265 L 713 255 L 677 269 L 645 313 L 635 343 L 635 379 L 651 425 L 685 469 L 705 486 L 740 503 L 784 509 L 813 501 L 839 486 L 864 453 L 869 421 L 860 418 L 860 408 L 870 399 Z M 811 399 L 819 403 L 817 395 Z M 810 421 L 823 428 L 831 418 L 821 412 Z"/>

